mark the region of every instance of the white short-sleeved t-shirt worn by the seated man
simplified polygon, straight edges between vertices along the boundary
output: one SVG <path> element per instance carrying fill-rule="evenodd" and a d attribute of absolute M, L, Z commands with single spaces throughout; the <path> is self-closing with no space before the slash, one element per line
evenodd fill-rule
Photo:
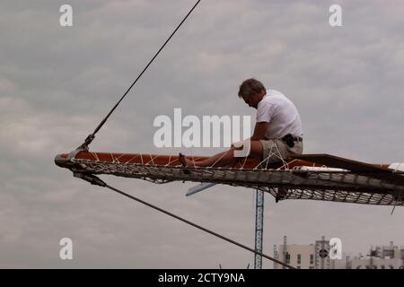
<path fill-rule="evenodd" d="M 268 122 L 268 139 L 291 134 L 303 136 L 302 122 L 294 103 L 280 91 L 268 90 L 257 107 L 257 123 Z"/>

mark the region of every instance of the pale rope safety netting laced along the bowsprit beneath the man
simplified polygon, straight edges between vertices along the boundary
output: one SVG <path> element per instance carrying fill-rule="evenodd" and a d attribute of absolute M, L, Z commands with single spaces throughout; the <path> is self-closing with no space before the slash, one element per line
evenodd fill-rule
<path fill-rule="evenodd" d="M 403 205 L 404 187 L 349 170 L 294 165 L 282 161 L 276 169 L 268 168 L 268 159 L 242 158 L 235 167 L 184 167 L 177 156 L 127 153 L 86 152 L 75 156 L 75 172 L 140 178 L 156 184 L 172 181 L 213 182 L 233 187 L 250 187 L 268 192 L 278 200 L 310 199 L 356 204 Z M 108 158 L 106 154 L 109 155 Z M 269 153 L 271 156 L 271 153 Z M 273 156 L 273 155 L 272 155 Z M 203 157 L 193 157 L 201 160 Z M 314 166 L 314 165 L 313 165 Z"/>

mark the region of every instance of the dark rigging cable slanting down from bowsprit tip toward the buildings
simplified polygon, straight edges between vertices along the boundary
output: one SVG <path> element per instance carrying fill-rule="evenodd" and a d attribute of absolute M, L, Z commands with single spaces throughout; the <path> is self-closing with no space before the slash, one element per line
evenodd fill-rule
<path fill-rule="evenodd" d="M 205 227 L 202 227 L 202 226 L 200 226 L 200 225 L 198 225 L 198 224 L 196 224 L 196 223 L 194 223 L 194 222 L 189 222 L 188 220 L 186 220 L 186 219 L 184 219 L 184 218 L 182 218 L 182 217 L 180 217 L 180 216 L 178 216 L 178 215 L 176 215 L 176 214 L 174 214 L 174 213 L 170 213 L 170 212 L 168 212 L 168 211 L 165 211 L 165 210 L 163 210 L 162 208 L 155 206 L 154 204 L 149 204 L 149 203 L 145 202 L 144 200 L 142 200 L 142 199 L 140 199 L 140 198 L 137 198 L 137 197 L 135 197 L 135 196 L 131 196 L 131 195 L 127 194 L 126 192 L 123 192 L 123 191 L 121 191 L 121 190 L 119 190 L 119 189 L 117 189 L 117 188 L 115 188 L 115 187 L 110 187 L 107 183 L 105 183 L 104 181 L 102 181 L 101 178 L 98 178 L 98 177 L 96 177 L 96 176 L 94 176 L 94 175 L 84 175 L 84 174 L 78 173 L 78 174 L 75 174 L 75 177 L 77 177 L 77 178 L 83 178 L 84 180 L 90 182 L 92 185 L 98 185 L 98 186 L 101 186 L 101 187 L 108 187 L 108 188 L 110 188 L 110 190 L 113 190 L 113 191 L 119 193 L 119 194 L 122 195 L 122 196 L 127 196 L 128 198 L 130 198 L 130 199 L 132 199 L 132 200 L 135 200 L 135 201 L 137 201 L 138 203 L 145 204 L 145 205 L 147 205 L 147 206 L 153 208 L 153 209 L 156 210 L 156 211 L 159 211 L 159 212 L 161 212 L 161 213 L 167 214 L 167 215 L 169 215 L 169 216 L 171 216 L 171 217 L 173 217 L 173 218 L 175 218 L 175 219 L 178 219 L 178 220 L 181 221 L 181 222 L 185 222 L 185 223 L 187 223 L 187 224 L 189 224 L 189 225 L 191 225 L 191 226 L 193 226 L 193 227 L 196 227 L 196 228 L 198 228 L 199 230 L 203 230 L 203 231 L 205 231 L 205 232 L 207 232 L 207 233 L 210 233 L 210 234 L 214 235 L 215 237 L 218 237 L 219 239 L 224 239 L 224 240 L 227 241 L 227 242 L 233 243 L 234 245 L 236 245 L 236 246 L 238 246 L 238 247 L 240 247 L 240 248 L 244 248 L 244 249 L 246 249 L 246 250 L 249 250 L 250 252 L 255 253 L 255 254 L 258 254 L 258 255 L 261 256 L 261 257 L 265 257 L 265 258 L 267 258 L 267 259 L 269 259 L 269 260 L 271 260 L 271 261 L 276 262 L 277 264 L 284 265 L 284 266 L 286 266 L 286 267 L 288 267 L 288 268 L 290 268 L 290 269 L 295 269 L 294 266 L 292 266 L 292 265 L 287 265 L 287 264 L 285 264 L 284 262 L 277 260 L 276 258 L 268 257 L 268 255 L 265 255 L 265 254 L 263 254 L 263 253 L 261 253 L 261 252 L 255 250 L 255 249 L 249 248 L 249 247 L 243 245 L 242 243 L 239 243 L 239 242 L 237 242 L 237 241 L 234 241 L 233 239 L 228 239 L 228 238 L 224 237 L 223 235 L 221 235 L 221 234 L 219 234 L 219 233 L 216 233 L 215 231 L 208 230 L 208 229 L 206 229 Z"/>

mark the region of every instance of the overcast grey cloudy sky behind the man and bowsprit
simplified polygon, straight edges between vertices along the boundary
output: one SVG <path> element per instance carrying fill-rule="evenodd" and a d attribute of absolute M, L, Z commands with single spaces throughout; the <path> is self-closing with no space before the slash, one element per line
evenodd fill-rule
<path fill-rule="evenodd" d="M 73 27 L 59 7 L 71 4 Z M 0 4 L 0 267 L 245 268 L 248 251 L 57 168 L 83 142 L 194 4 L 172 1 L 3 1 Z M 329 6 L 342 6 L 342 27 Z M 404 162 L 404 2 L 202 0 L 130 91 L 92 151 L 211 154 L 157 149 L 154 117 L 255 115 L 237 97 L 251 76 L 299 109 L 304 152 Z M 253 247 L 247 188 L 110 185 Z M 345 252 L 404 245 L 404 210 L 266 196 L 264 252 L 338 237 Z M 59 259 L 62 238 L 74 259 Z M 264 260 L 264 267 L 272 263 Z"/>

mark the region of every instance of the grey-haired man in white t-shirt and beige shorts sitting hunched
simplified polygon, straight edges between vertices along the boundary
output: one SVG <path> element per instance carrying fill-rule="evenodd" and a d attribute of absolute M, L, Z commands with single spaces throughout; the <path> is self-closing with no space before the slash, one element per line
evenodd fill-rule
<path fill-rule="evenodd" d="M 239 97 L 250 107 L 257 109 L 254 134 L 250 137 L 250 156 L 272 163 L 283 161 L 291 155 L 303 152 L 303 131 L 299 113 L 294 103 L 280 91 L 266 90 L 255 79 L 248 79 L 240 85 Z M 237 150 L 245 150 L 243 145 L 234 143 L 230 150 L 220 152 L 205 161 L 191 161 L 180 153 L 184 167 L 233 167 L 239 161 Z M 242 152 L 242 151 L 240 151 Z"/>

